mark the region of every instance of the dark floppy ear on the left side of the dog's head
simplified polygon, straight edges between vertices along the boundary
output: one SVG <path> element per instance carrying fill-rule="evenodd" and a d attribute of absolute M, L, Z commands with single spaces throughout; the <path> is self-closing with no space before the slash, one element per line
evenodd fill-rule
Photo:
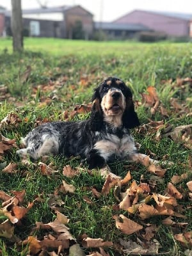
<path fill-rule="evenodd" d="M 100 131 L 103 123 L 102 109 L 100 108 L 99 88 L 95 89 L 92 97 L 93 107 L 90 116 L 90 128 L 92 131 Z"/>

